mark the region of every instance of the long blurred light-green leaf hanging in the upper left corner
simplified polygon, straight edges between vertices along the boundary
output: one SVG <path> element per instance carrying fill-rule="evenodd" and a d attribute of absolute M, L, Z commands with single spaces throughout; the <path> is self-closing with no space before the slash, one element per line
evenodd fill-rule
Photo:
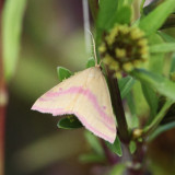
<path fill-rule="evenodd" d="M 20 38 L 22 34 L 22 20 L 26 0 L 7 0 L 2 13 L 2 54 L 4 75 L 9 81 L 16 68 Z"/>

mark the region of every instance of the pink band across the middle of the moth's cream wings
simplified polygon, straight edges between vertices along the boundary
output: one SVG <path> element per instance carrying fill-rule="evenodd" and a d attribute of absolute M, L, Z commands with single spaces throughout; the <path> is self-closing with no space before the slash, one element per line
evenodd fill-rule
<path fill-rule="evenodd" d="M 108 124 L 114 124 L 115 119 L 114 117 L 109 117 L 107 114 L 105 114 L 103 106 L 101 107 L 96 96 L 90 91 L 90 90 L 84 90 L 81 86 L 73 86 L 70 88 L 66 91 L 60 91 L 60 92 L 47 92 L 45 95 L 48 97 L 57 97 L 59 95 L 65 95 L 65 94 L 82 94 L 84 96 L 86 96 L 93 104 L 93 106 L 95 107 L 95 109 L 97 110 L 97 113 L 105 119 L 106 122 Z M 39 101 L 50 101 L 45 98 L 45 97 L 40 97 Z"/>

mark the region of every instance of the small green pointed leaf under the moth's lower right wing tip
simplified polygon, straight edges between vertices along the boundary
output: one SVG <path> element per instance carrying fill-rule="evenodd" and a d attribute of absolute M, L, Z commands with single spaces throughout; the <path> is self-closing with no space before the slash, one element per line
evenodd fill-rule
<path fill-rule="evenodd" d="M 116 137 L 116 140 L 113 144 L 106 141 L 106 145 L 110 149 L 112 152 L 116 153 L 118 156 L 122 156 L 121 143 L 118 136 Z"/>

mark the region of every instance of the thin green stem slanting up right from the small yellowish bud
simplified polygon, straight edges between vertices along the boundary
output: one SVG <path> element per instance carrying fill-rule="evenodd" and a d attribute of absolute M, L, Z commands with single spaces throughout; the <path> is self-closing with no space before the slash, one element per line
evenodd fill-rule
<path fill-rule="evenodd" d="M 167 113 L 168 108 L 172 106 L 172 104 L 173 104 L 172 100 L 167 100 L 165 102 L 164 106 L 162 107 L 160 113 L 155 116 L 153 121 L 148 127 L 145 127 L 143 129 L 144 137 L 149 136 L 150 133 L 152 133 L 156 129 L 156 127 L 159 126 L 159 124 L 161 122 L 161 120 L 163 119 L 163 117 Z"/>

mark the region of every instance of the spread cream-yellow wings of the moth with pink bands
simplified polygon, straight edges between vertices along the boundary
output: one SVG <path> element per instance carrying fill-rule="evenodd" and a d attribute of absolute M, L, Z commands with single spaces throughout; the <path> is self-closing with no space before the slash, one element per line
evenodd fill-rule
<path fill-rule="evenodd" d="M 32 109 L 54 116 L 74 114 L 94 135 L 114 142 L 116 120 L 106 80 L 97 67 L 85 69 L 40 96 Z"/>

